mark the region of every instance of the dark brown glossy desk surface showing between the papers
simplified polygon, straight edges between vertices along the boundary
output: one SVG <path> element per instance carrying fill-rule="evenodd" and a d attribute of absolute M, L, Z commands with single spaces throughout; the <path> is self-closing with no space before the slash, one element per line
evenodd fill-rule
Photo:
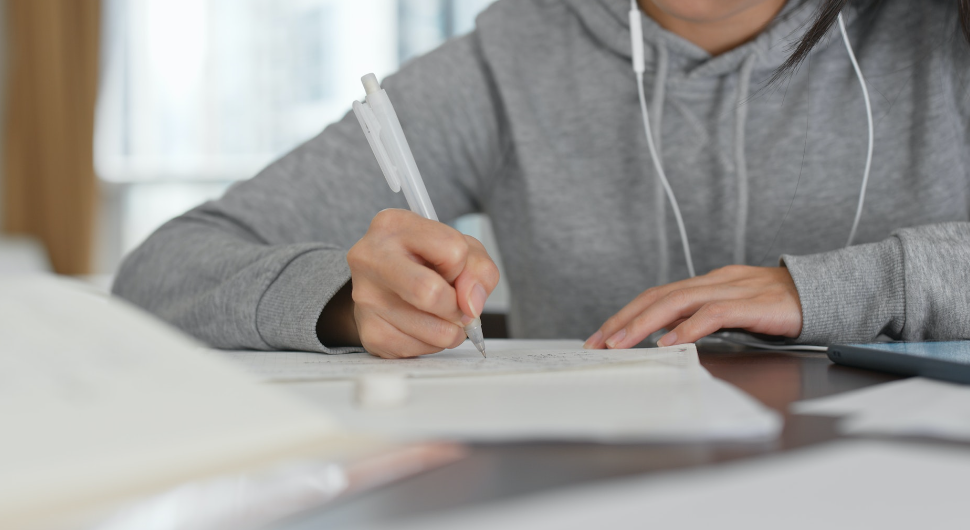
<path fill-rule="evenodd" d="M 770 444 L 743 445 L 478 445 L 455 464 L 306 514 L 283 528 L 393 521 L 598 479 L 705 466 L 819 443 L 837 437 L 834 420 L 789 415 L 790 403 L 899 379 L 834 365 L 822 353 L 701 348 L 700 359 L 715 377 L 783 413 L 781 437 Z"/>

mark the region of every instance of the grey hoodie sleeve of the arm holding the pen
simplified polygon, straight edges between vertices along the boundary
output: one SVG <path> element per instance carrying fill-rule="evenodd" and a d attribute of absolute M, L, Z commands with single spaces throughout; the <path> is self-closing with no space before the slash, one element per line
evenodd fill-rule
<path fill-rule="evenodd" d="M 449 41 L 383 84 L 442 220 L 480 210 L 501 158 L 499 110 L 476 38 Z M 113 291 L 214 347 L 349 351 L 322 344 L 317 321 L 350 279 L 347 250 L 389 207 L 407 204 L 348 113 L 161 227 L 125 259 Z"/>

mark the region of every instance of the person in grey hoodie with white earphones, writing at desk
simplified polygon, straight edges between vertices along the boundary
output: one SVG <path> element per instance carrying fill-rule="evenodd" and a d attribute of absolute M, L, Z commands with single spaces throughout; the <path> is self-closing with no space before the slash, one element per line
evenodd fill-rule
<path fill-rule="evenodd" d="M 499 1 L 384 81 L 439 217 L 490 216 L 513 337 L 970 338 L 967 0 L 639 8 L 656 162 L 693 278 L 648 149 L 627 0 Z M 875 122 L 845 248 L 868 134 L 840 12 Z M 498 270 L 405 208 L 348 114 L 162 226 L 114 292 L 214 347 L 440 351 Z"/>

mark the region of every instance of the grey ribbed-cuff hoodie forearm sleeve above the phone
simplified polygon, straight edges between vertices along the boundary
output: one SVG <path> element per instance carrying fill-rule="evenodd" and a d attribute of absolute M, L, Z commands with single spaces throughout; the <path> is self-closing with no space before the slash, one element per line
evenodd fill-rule
<path fill-rule="evenodd" d="M 802 303 L 797 342 L 970 339 L 970 223 L 899 230 L 879 243 L 782 256 Z"/>

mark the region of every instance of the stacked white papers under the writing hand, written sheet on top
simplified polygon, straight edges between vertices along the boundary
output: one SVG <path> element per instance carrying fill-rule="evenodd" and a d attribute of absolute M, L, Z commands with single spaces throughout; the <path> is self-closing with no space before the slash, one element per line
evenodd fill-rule
<path fill-rule="evenodd" d="M 354 430 L 397 439 L 600 442 L 765 440 L 778 414 L 700 365 L 693 345 L 582 349 L 579 341 L 466 343 L 416 359 L 367 353 L 232 352 L 257 376 L 325 407 Z M 368 373 L 407 376 L 399 406 L 355 399 Z M 316 381 L 314 381 L 316 380 Z M 302 381 L 302 382 L 299 382 Z"/>

